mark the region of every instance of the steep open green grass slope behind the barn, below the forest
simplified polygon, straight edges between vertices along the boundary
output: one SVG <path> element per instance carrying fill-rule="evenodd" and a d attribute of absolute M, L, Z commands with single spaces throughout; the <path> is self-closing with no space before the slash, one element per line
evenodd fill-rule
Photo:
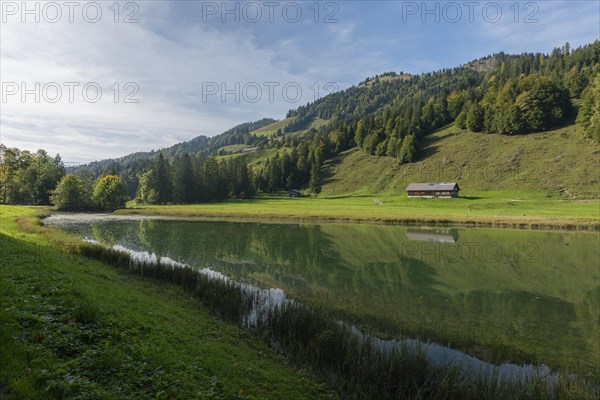
<path fill-rule="evenodd" d="M 447 127 L 426 138 L 415 163 L 348 150 L 325 164 L 324 195 L 404 193 L 410 182 L 458 182 L 462 195 L 600 197 L 600 145 L 579 125 L 522 136 Z"/>

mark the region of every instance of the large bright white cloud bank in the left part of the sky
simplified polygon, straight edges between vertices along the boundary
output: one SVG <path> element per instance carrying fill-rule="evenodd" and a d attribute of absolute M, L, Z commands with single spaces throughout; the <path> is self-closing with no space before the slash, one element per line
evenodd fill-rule
<path fill-rule="evenodd" d="M 228 96 L 223 104 L 220 96 L 212 96 L 210 103 L 203 103 L 203 82 L 232 88 L 236 82 L 243 87 L 255 81 L 261 85 L 297 81 L 274 68 L 272 52 L 257 49 L 248 32 L 240 35 L 194 26 L 184 29 L 181 38 L 175 42 L 143 24 L 114 24 L 109 19 L 97 24 L 3 24 L 3 83 L 19 87 L 25 83 L 31 90 L 36 83 L 43 88 L 55 82 L 63 96 L 56 104 L 45 101 L 55 97 L 54 91 L 40 90 L 39 102 L 31 94 L 25 102 L 18 93 L 7 97 L 2 104 L 2 141 L 11 146 L 54 148 L 65 159 L 78 161 L 164 147 L 198 134 L 218 133 L 258 118 L 260 112 L 273 114 L 268 101 L 244 104 L 242 98 L 237 104 Z M 65 82 L 79 85 L 72 102 Z M 90 82 L 102 87 L 97 103 L 86 101 L 81 93 Z M 113 101 L 115 82 L 120 89 L 118 103 Z M 122 103 L 131 93 L 124 90 L 127 82 L 139 87 L 134 96 L 139 103 Z M 288 108 L 284 104 L 280 114 Z"/>

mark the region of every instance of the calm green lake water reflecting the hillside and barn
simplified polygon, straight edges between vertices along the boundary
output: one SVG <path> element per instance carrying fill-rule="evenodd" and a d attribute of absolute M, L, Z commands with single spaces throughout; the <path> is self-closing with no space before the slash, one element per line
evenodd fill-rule
<path fill-rule="evenodd" d="M 81 238 L 279 288 L 382 339 L 600 370 L 597 232 L 51 217 Z"/>

